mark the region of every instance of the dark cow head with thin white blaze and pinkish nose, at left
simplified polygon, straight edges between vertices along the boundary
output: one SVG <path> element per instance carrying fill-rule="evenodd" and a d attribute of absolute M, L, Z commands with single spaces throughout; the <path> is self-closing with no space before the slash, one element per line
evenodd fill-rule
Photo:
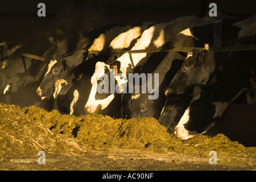
<path fill-rule="evenodd" d="M 82 53 L 62 57 L 54 55 L 48 65 L 47 72 L 42 79 L 37 94 L 42 100 L 50 98 L 54 92 L 54 84 L 57 80 L 64 79 L 70 75 L 75 67 L 83 61 Z"/>

